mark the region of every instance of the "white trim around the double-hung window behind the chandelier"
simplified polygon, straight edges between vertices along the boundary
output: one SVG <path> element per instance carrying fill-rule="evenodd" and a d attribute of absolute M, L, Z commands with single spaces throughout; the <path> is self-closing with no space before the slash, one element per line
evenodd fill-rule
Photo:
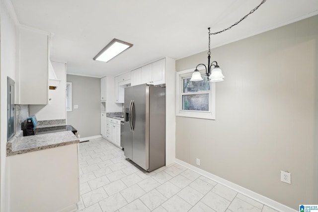
<path fill-rule="evenodd" d="M 199 71 L 201 74 L 205 74 L 204 67 L 199 67 Z M 193 69 L 188 69 L 184 71 L 176 72 L 176 107 L 175 113 L 176 116 L 183 116 L 183 117 L 191 117 L 191 118 L 199 118 L 199 119 L 212 119 L 215 120 L 215 82 L 210 82 L 210 92 L 209 92 L 209 111 L 184 111 L 182 110 L 182 77 L 184 76 L 191 76 L 193 73 Z"/>

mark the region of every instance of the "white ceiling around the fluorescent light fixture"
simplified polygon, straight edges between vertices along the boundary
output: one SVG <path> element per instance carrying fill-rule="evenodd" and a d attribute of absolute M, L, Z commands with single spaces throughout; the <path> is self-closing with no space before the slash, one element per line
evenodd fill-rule
<path fill-rule="evenodd" d="M 261 0 L 11 0 L 20 24 L 54 34 L 51 60 L 67 72 L 118 75 L 163 57 L 208 50 Z M 318 0 L 267 0 L 211 48 L 318 14 Z M 313 26 L 317 27 L 317 26 Z M 108 63 L 93 57 L 113 38 L 134 44 Z M 212 51 L 213 58 L 213 51 Z"/>

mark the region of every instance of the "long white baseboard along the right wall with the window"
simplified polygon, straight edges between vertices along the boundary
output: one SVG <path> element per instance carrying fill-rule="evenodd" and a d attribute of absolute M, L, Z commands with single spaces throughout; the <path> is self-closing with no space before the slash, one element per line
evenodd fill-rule
<path fill-rule="evenodd" d="M 223 179 L 221 177 L 218 177 L 218 176 L 216 176 L 214 174 L 211 174 L 210 172 L 204 171 L 204 170 L 202 170 L 202 169 L 200 169 L 200 168 L 198 168 L 196 166 L 193 166 L 193 165 L 191 165 L 189 163 L 186 163 L 186 162 L 184 162 L 182 160 L 175 159 L 175 162 L 180 164 L 180 165 L 182 165 L 182 166 L 185 166 L 188 169 L 190 169 L 192 171 L 195 171 L 195 172 L 197 172 L 197 173 L 199 173 L 199 174 L 201 174 L 201 175 L 203 175 L 203 176 L 205 176 L 207 178 L 210 178 L 211 180 L 214 180 L 217 183 L 220 183 L 220 184 L 222 184 L 222 185 L 224 185 L 226 187 L 229 187 L 232 190 L 234 190 L 236 192 L 239 192 L 240 194 L 245 195 L 246 197 L 254 199 L 254 200 L 256 200 L 257 202 L 259 202 L 261 204 L 264 204 L 264 205 L 266 205 L 266 206 L 268 206 L 268 207 L 270 207 L 272 209 L 275 209 L 276 211 L 279 211 L 279 212 L 297 212 L 296 210 L 294 210 L 292 208 L 289 208 L 289 207 L 287 207 L 287 206 L 285 206 L 283 204 L 280 204 L 280 203 L 278 203 L 278 202 L 276 202 L 274 200 L 271 200 L 271 199 L 269 199 L 267 197 L 264 197 L 264 196 L 262 196 L 260 194 L 255 193 L 253 191 L 245 189 L 245 188 L 243 188 L 243 187 L 241 187 L 241 186 L 239 186 L 239 185 L 237 185 L 235 183 L 232 183 L 232 182 L 230 182 L 228 180 L 225 180 L 225 179 Z"/>

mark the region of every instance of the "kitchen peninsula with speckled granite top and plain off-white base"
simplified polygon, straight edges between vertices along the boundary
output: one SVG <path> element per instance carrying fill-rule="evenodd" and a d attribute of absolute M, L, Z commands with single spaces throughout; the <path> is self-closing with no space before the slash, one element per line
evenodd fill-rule
<path fill-rule="evenodd" d="M 79 202 L 79 140 L 72 131 L 7 142 L 10 212 L 63 212 Z"/>

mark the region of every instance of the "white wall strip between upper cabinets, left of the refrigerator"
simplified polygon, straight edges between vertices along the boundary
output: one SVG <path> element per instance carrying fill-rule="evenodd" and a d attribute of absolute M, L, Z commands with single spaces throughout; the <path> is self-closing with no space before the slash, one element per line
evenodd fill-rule
<path fill-rule="evenodd" d="M 121 103 L 115 103 L 115 77 L 106 76 L 106 112 L 122 112 Z"/>

